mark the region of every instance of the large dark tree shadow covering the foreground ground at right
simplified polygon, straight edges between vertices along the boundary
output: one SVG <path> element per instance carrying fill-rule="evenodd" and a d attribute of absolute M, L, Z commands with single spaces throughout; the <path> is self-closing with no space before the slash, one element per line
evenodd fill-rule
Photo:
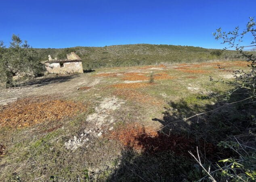
<path fill-rule="evenodd" d="M 240 100 L 243 97 L 246 95 L 239 95 Z M 231 103 L 236 99 L 231 97 L 227 102 Z M 152 133 L 139 131 L 129 136 L 129 128 L 126 128 L 125 139 L 118 139 L 127 148 L 122 152 L 118 168 L 108 181 L 199 180 L 206 173 L 188 153 L 191 151 L 197 155 L 197 147 L 201 162 L 205 166 L 221 159 L 236 157 L 236 153 L 218 147 L 217 144 L 234 135 L 245 133 L 251 127 L 250 116 L 256 114 L 256 105 L 248 106 L 241 102 L 214 110 L 224 104 L 222 99 L 215 104 L 204 105 L 191 104 L 184 99 L 170 102 L 170 107 L 166 108 L 162 119 L 152 119 L 166 126 L 161 130 Z M 208 112 L 211 110 L 214 111 Z M 208 113 L 184 120 L 201 112 Z M 141 133 L 145 134 L 140 135 Z M 131 139 L 127 139 L 129 137 Z M 141 149 L 141 152 L 136 149 Z"/>

